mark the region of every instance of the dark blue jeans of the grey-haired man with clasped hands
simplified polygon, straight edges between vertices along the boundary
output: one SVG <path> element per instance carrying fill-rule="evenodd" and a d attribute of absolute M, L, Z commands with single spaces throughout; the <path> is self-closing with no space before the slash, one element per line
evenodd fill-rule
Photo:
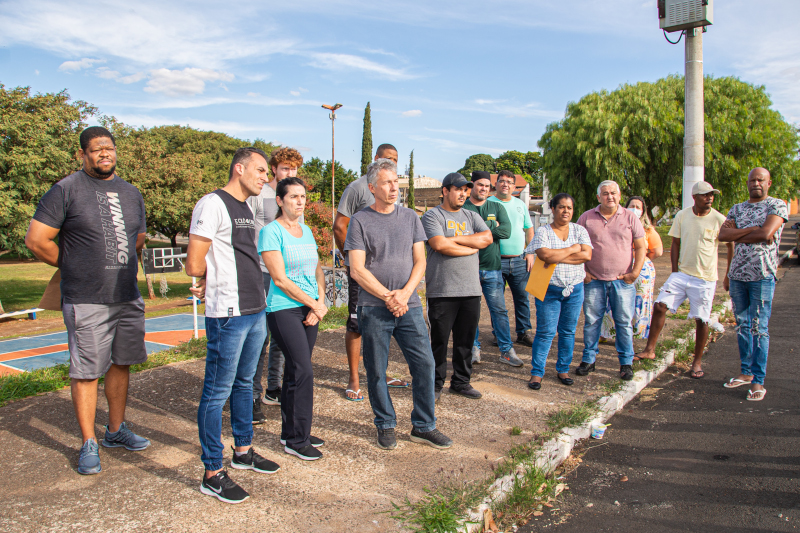
<path fill-rule="evenodd" d="M 419 431 L 436 429 L 433 393 L 435 365 L 422 307 L 411 307 L 406 314 L 396 318 L 385 307 L 358 306 L 358 329 L 361 331 L 367 390 L 375 414 L 375 426 L 388 429 L 397 425 L 386 385 L 389 342 L 394 337 L 411 371 L 414 401 L 411 423 Z"/>

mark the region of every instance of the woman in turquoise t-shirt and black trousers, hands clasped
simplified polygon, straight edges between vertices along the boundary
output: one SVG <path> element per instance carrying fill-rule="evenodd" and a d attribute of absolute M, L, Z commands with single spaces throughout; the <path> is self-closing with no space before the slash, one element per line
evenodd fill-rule
<path fill-rule="evenodd" d="M 270 274 L 267 297 L 269 330 L 286 357 L 281 387 L 281 444 L 286 453 L 306 461 L 322 457 L 324 442 L 311 436 L 314 373 L 311 352 L 325 307 L 325 276 L 311 228 L 300 222 L 306 185 L 285 178 L 275 190 L 279 216 L 258 235 L 258 251 Z"/>

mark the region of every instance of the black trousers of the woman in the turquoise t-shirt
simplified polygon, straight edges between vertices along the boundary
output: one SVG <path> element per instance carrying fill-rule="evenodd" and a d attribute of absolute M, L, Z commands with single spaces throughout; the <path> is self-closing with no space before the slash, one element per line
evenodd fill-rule
<path fill-rule="evenodd" d="M 295 450 L 311 444 L 309 437 L 314 410 L 311 352 L 317 342 L 319 326 L 303 324 L 310 310 L 306 306 L 292 307 L 267 315 L 269 330 L 286 358 L 281 387 L 281 439 Z"/>

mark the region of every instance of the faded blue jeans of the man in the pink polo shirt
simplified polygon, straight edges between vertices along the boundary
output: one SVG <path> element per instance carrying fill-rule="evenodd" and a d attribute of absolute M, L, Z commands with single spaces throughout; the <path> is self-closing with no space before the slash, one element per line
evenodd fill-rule
<path fill-rule="evenodd" d="M 583 286 L 583 362 L 594 363 L 597 359 L 597 344 L 600 328 L 606 312 L 606 302 L 611 304 L 611 316 L 617 331 L 615 339 L 619 364 L 633 363 L 633 309 L 636 303 L 636 284 L 630 285 L 621 279 L 602 281 L 594 279 Z"/>

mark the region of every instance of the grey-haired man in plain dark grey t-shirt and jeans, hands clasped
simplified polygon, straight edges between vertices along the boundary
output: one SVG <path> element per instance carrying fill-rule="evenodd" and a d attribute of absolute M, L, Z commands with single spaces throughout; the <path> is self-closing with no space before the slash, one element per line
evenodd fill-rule
<path fill-rule="evenodd" d="M 364 339 L 364 368 L 378 446 L 385 450 L 397 446 L 397 418 L 386 382 L 389 343 L 394 337 L 414 380 L 411 440 L 449 448 L 452 441 L 436 429 L 434 361 L 417 295 L 425 272 L 425 232 L 414 211 L 395 205 L 399 187 L 394 162 L 376 160 L 366 177 L 375 203 L 353 215 L 344 249 L 349 252 L 352 276 L 361 287 L 356 314 Z"/>

